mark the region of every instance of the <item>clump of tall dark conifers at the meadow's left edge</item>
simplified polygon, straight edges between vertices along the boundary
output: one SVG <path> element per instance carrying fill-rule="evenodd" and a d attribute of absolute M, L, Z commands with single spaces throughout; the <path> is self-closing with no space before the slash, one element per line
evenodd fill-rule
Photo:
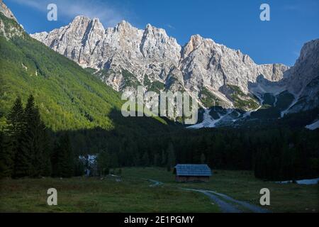
<path fill-rule="evenodd" d="M 0 132 L 1 177 L 71 177 L 74 175 L 69 135 L 60 136 L 52 146 L 52 135 L 40 118 L 33 95 L 23 107 L 14 102 Z"/>

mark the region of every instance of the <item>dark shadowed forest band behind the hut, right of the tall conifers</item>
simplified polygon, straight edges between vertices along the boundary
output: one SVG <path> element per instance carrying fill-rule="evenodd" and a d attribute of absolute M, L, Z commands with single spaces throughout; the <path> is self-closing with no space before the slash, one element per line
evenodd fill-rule
<path fill-rule="evenodd" d="M 74 150 L 99 153 L 100 167 L 206 163 L 213 170 L 252 170 L 260 179 L 319 176 L 319 130 L 288 126 L 177 129 L 138 135 L 132 131 L 74 131 Z M 98 163 L 99 164 L 99 163 Z M 103 172 L 103 168 L 101 168 Z"/>

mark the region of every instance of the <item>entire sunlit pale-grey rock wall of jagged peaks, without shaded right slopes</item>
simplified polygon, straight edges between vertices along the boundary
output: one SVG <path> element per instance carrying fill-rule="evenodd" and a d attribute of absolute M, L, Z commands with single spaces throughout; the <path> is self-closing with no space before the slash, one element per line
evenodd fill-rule
<path fill-rule="evenodd" d="M 217 95 L 227 84 L 247 93 L 249 82 L 256 82 L 260 74 L 273 81 L 281 79 L 285 70 L 273 65 L 256 65 L 240 51 L 201 35 L 192 35 L 181 48 L 164 29 L 150 24 L 140 30 L 121 21 L 115 28 L 104 30 L 99 21 L 80 16 L 69 26 L 48 35 L 32 36 L 82 67 L 111 69 L 113 74 L 103 79 L 116 90 L 132 84 L 125 82 L 123 70 L 134 77 L 131 78 L 134 84 L 142 84 L 147 75 L 150 81 L 164 82 L 168 88 L 201 91 L 202 87 L 208 87 Z"/>

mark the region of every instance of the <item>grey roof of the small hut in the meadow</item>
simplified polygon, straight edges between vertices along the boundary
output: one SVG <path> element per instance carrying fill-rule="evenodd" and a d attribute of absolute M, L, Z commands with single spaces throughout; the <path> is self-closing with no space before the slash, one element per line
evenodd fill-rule
<path fill-rule="evenodd" d="M 211 169 L 204 164 L 178 164 L 175 173 L 177 176 L 211 177 Z"/>

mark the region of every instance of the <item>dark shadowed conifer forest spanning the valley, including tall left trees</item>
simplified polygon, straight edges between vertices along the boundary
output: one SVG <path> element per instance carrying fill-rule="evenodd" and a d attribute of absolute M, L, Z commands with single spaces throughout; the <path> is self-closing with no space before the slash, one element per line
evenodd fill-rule
<path fill-rule="evenodd" d="M 84 175 L 79 155 L 98 154 L 96 174 L 121 167 L 165 167 L 207 163 L 213 170 L 254 170 L 260 179 L 319 176 L 319 131 L 288 126 L 204 128 L 168 127 L 141 135 L 135 128 L 95 128 L 53 132 L 45 127 L 32 95 L 17 98 L 0 132 L 1 177 Z"/>

